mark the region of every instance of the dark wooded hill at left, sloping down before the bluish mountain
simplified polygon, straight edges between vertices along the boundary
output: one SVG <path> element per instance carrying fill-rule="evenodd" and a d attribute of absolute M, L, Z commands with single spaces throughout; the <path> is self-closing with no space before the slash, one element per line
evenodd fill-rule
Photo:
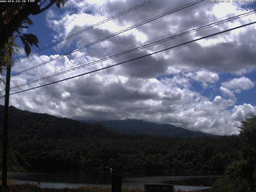
<path fill-rule="evenodd" d="M 1 135 L 3 112 L 4 106 L 0 105 Z M 14 106 L 9 108 L 8 138 L 10 140 L 45 140 L 47 138 L 83 138 L 87 136 L 116 138 L 119 135 L 102 124 L 88 124 L 68 118 L 23 111 Z"/>

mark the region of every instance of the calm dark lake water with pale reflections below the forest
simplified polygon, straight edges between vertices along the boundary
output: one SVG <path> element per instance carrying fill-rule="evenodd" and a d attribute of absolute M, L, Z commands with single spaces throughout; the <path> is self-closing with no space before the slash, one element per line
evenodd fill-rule
<path fill-rule="evenodd" d="M 220 176 L 171 176 L 168 174 L 122 174 L 122 187 L 144 188 L 144 184 L 174 184 L 182 190 L 210 188 Z M 47 188 L 78 188 L 79 186 L 111 187 L 111 173 L 106 172 L 40 172 L 8 173 L 8 178 L 16 184 L 41 182 Z M 202 187 L 200 187 L 202 185 Z"/>

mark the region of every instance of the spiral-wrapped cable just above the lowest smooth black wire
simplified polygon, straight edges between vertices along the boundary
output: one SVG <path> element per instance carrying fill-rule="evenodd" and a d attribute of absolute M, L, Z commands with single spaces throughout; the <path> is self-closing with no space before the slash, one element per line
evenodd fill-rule
<path fill-rule="evenodd" d="M 65 74 L 67 72 L 71 72 L 71 71 L 74 71 L 74 70 L 78 70 L 80 68 L 84 68 L 86 66 L 90 66 L 90 65 L 93 65 L 93 64 L 96 64 L 96 63 L 99 63 L 99 62 L 103 62 L 103 61 L 106 61 L 106 60 L 109 60 L 109 59 L 112 59 L 112 58 L 116 58 L 118 56 L 122 56 L 124 54 L 128 54 L 130 52 L 134 52 L 136 50 L 140 50 L 140 49 L 143 49 L 143 48 L 146 48 L 146 47 L 149 47 L 149 46 L 154 46 L 156 44 L 160 44 L 160 43 L 163 43 L 163 42 L 166 42 L 168 40 L 172 40 L 174 38 L 177 38 L 177 37 L 180 37 L 180 36 L 183 36 L 183 35 L 186 35 L 186 34 L 190 34 L 192 32 L 196 32 L 196 31 L 199 31 L 199 30 L 203 30 L 203 29 L 206 29 L 206 28 L 210 28 L 210 27 L 213 27 L 213 26 L 216 26 L 216 25 L 219 25 L 219 24 L 222 24 L 224 22 L 229 22 L 229 21 L 232 21 L 234 19 L 238 19 L 238 18 L 242 18 L 244 16 L 248 16 L 248 15 L 251 15 L 251 14 L 254 14 L 255 13 L 255 10 L 252 10 L 250 12 L 247 12 L 247 13 L 243 13 L 243 14 L 240 14 L 240 15 L 237 15 L 237 16 L 233 16 L 233 17 L 230 17 L 230 18 L 227 18 L 227 19 L 224 19 L 224 20 L 220 20 L 218 22 L 214 22 L 214 23 L 211 23 L 211 24 L 208 24 L 208 25 L 205 25 L 205 26 L 201 26 L 199 28 L 193 28 L 191 30 L 188 30 L 186 32 L 183 32 L 181 34 L 176 34 L 174 36 L 170 36 L 170 37 L 167 37 L 167 38 L 164 38 L 164 39 L 161 39 L 161 40 L 158 40 L 158 41 L 155 41 L 155 42 L 152 42 L 152 43 L 149 43 L 149 44 L 145 44 L 143 46 L 139 46 L 139 47 L 136 47 L 136 48 L 133 48 L 133 49 L 130 49 L 130 50 L 127 50 L 127 51 L 124 51 L 124 52 L 120 52 L 118 54 L 115 54 L 115 55 L 112 55 L 112 56 L 108 56 L 108 57 L 105 57 L 105 58 L 102 58 L 100 60 L 96 60 L 96 61 L 93 61 L 93 62 L 83 62 L 83 63 L 87 63 L 87 64 L 84 64 L 84 65 L 81 65 L 83 63 L 80 63 L 79 65 L 77 65 L 76 67 L 70 67 L 70 68 L 67 68 L 66 70 L 60 70 L 61 72 L 55 72 L 55 73 L 51 73 L 51 74 L 48 74 L 48 75 L 44 75 L 42 77 L 39 77 L 39 78 L 36 78 L 35 80 L 30 80 L 30 81 L 27 81 L 27 82 L 22 82 L 20 84 L 17 84 L 17 85 L 14 85 L 12 86 L 11 88 L 19 88 L 19 87 L 22 87 L 22 86 L 26 86 L 26 85 L 30 85 L 32 83 L 35 83 L 35 82 L 39 82 L 39 81 L 42 81 L 42 80 L 46 80 L 48 78 L 52 78 L 52 77 L 55 77 L 55 76 L 58 76 L 58 75 L 61 75 L 61 74 Z"/>

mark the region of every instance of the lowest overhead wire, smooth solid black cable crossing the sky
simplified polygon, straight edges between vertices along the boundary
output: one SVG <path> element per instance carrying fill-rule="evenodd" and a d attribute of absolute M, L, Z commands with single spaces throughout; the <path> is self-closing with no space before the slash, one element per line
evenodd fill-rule
<path fill-rule="evenodd" d="M 201 37 L 201 38 L 198 38 L 198 39 L 195 39 L 195 40 L 191 40 L 191 41 L 188 41 L 188 42 L 185 42 L 185 43 L 182 43 L 182 44 L 178 44 L 178 45 L 176 45 L 176 46 L 172 46 L 172 47 L 169 47 L 169 48 L 166 48 L 166 49 L 163 49 L 163 50 L 154 52 L 154 53 L 150 53 L 150 54 L 147 54 L 147 55 L 144 55 L 144 56 L 140 56 L 140 57 L 137 57 L 137 58 L 133 58 L 133 59 L 130 59 L 130 60 L 127 60 L 127 61 L 124 61 L 124 62 L 120 62 L 120 63 L 117 63 L 117 64 L 113 64 L 113 65 L 110 65 L 110 66 L 107 66 L 107 67 L 104 67 L 104 68 L 100 68 L 100 69 L 97 69 L 97 70 L 93 70 L 93 71 L 90 71 L 90 72 L 86 72 L 86 73 L 83 73 L 83 74 L 80 74 L 80 75 L 76 75 L 76 76 L 73 76 L 73 77 L 70 77 L 70 78 L 65 78 L 65 79 L 58 80 L 58 81 L 55 81 L 55 82 L 52 82 L 52 83 L 48 83 L 48 84 L 44 84 L 44 85 L 41 85 L 41 86 L 37 86 L 37 87 L 30 88 L 30 89 L 22 90 L 22 91 L 19 91 L 19 92 L 14 92 L 14 93 L 11 93 L 10 95 L 17 94 L 17 93 L 21 93 L 21 92 L 25 92 L 25 91 L 28 91 L 28 90 L 33 90 L 33 89 L 36 89 L 36 88 L 44 87 L 44 86 L 47 86 L 47 85 L 55 84 L 55 83 L 58 83 L 58 82 L 62 82 L 62 81 L 65 81 L 65 80 L 69 80 L 69 79 L 72 79 L 72 78 L 76 78 L 76 77 L 79 77 L 79 76 L 83 76 L 83 75 L 86 75 L 86 74 L 90 74 L 90 73 L 93 73 L 93 72 L 97 72 L 97 71 L 100 71 L 100 70 L 103 70 L 103 69 L 106 69 L 106 68 L 110 68 L 110 67 L 117 66 L 117 65 L 120 65 L 120 64 L 123 64 L 123 63 L 127 63 L 127 62 L 130 62 L 130 61 L 134 61 L 134 60 L 137 60 L 137 59 L 140 59 L 140 58 L 144 58 L 144 57 L 146 57 L 146 56 L 150 56 L 150 55 L 153 55 L 153 54 L 156 54 L 156 53 L 159 53 L 159 52 L 163 52 L 163 51 L 166 51 L 166 50 L 169 50 L 169 49 L 178 47 L 178 46 L 182 46 L 182 45 L 185 45 L 185 44 L 189 44 L 189 43 L 192 43 L 192 42 L 196 42 L 196 41 L 198 41 L 198 40 L 202 40 L 202 39 L 205 39 L 205 38 L 208 38 L 208 37 L 211 37 L 211 36 L 215 36 L 215 35 L 218 35 L 218 34 L 222 34 L 222 33 L 224 33 L 224 32 L 232 31 L 232 30 L 235 30 L 235 29 L 238 29 L 238 28 L 242 28 L 242 27 L 245 27 L 245 26 L 248 26 L 248 25 L 255 24 L 255 23 L 256 23 L 256 21 L 255 21 L 255 22 L 248 23 L 248 24 L 244 24 L 244 25 L 241 25 L 241 26 L 238 26 L 238 27 L 234 27 L 234 28 L 231 28 L 231 29 L 228 29 L 228 30 L 224 30 L 224 31 L 221 31 L 221 32 L 218 32 L 218 33 L 214 33 L 214 34 L 211 34 L 211 35 L 208 35 L 208 36 L 204 36 L 204 37 Z M 4 97 L 4 96 L 2 96 L 2 97 Z M 2 97 L 1 97 L 1 98 L 2 98 Z"/>

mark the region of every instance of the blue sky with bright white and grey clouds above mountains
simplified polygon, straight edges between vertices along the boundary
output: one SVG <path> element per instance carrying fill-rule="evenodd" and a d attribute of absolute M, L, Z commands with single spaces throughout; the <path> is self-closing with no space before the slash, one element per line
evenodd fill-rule
<path fill-rule="evenodd" d="M 36 34 L 38 45 L 43 48 L 144 1 L 66 0 L 64 8 L 52 6 L 38 16 L 30 16 L 34 25 L 21 32 Z M 12 67 L 12 74 L 190 2 L 192 0 L 155 0 L 21 60 Z M 232 3 L 232 0 L 212 3 L 204 0 L 14 76 L 11 86 L 254 8 L 255 3 Z M 79 70 L 12 88 L 10 93 L 124 62 L 254 21 L 255 14 L 244 16 Z M 16 43 L 22 46 L 20 40 Z M 32 50 L 38 48 L 32 47 Z M 25 56 L 23 48 L 14 58 L 22 56 Z M 13 94 L 10 105 L 76 120 L 141 119 L 170 123 L 193 131 L 231 135 L 239 134 L 240 122 L 256 114 L 255 83 L 256 24 L 252 24 L 105 70 Z M 3 90 L 4 85 L 1 84 L 0 88 Z M 0 104 L 4 104 L 3 98 Z"/>

